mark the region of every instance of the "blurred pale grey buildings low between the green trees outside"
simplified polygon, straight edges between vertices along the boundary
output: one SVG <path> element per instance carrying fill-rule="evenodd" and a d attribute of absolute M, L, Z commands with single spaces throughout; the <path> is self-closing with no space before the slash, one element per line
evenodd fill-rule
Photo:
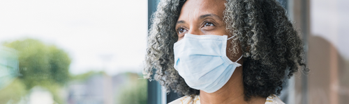
<path fill-rule="evenodd" d="M 86 80 L 73 80 L 65 91 L 68 92 L 66 102 L 68 104 L 119 104 L 117 97 L 130 80 L 129 78 L 130 76 L 124 73 L 115 76 L 96 73 Z"/>

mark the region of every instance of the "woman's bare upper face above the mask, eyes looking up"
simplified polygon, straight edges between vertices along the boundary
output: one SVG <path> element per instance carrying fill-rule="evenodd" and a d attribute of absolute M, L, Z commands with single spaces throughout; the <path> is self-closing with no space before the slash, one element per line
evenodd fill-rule
<path fill-rule="evenodd" d="M 178 41 L 184 34 L 228 35 L 223 11 L 225 0 L 188 0 L 181 8 L 176 24 Z"/>

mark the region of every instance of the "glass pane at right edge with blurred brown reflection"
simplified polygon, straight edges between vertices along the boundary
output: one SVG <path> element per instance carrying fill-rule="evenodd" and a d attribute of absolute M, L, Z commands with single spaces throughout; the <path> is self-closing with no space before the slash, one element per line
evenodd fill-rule
<path fill-rule="evenodd" d="M 309 103 L 349 102 L 349 1 L 311 1 Z"/>

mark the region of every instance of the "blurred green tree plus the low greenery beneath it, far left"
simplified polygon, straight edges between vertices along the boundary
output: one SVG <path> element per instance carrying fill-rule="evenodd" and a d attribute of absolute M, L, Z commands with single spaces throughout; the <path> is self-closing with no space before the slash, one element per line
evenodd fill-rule
<path fill-rule="evenodd" d="M 65 51 L 33 39 L 7 42 L 3 46 L 17 50 L 21 75 L 10 88 L 0 91 L 0 101 L 17 101 L 32 87 L 41 86 L 52 93 L 56 103 L 64 103 L 59 98 L 59 89 L 70 79 L 70 58 Z"/>

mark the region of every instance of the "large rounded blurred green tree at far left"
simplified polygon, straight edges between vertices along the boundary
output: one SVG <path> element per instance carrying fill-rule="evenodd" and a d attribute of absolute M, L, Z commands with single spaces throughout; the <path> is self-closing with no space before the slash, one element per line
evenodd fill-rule
<path fill-rule="evenodd" d="M 36 85 L 64 85 L 69 80 L 70 58 L 66 52 L 38 40 L 26 39 L 5 43 L 19 52 L 20 79 L 31 89 Z"/>

